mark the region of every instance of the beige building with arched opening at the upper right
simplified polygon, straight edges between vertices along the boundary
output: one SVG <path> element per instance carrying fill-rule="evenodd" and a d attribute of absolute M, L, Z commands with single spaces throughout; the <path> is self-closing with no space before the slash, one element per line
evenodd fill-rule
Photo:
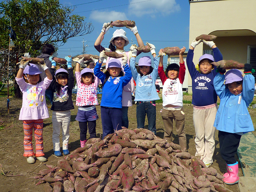
<path fill-rule="evenodd" d="M 223 60 L 250 63 L 256 69 L 256 0 L 189 0 L 189 44 L 201 34 L 215 35 Z M 196 46 L 193 62 L 211 48 Z M 256 74 L 253 74 L 256 77 Z M 192 92 L 188 78 L 188 92 Z"/>

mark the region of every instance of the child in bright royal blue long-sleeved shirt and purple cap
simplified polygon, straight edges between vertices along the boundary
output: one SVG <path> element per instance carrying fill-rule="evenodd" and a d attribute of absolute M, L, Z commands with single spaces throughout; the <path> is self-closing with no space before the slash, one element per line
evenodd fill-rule
<path fill-rule="evenodd" d="M 100 52 L 100 59 L 94 68 L 94 74 L 102 82 L 102 98 L 100 102 L 102 139 L 114 133 L 114 130 L 122 129 L 122 91 L 132 79 L 132 73 L 127 64 L 127 55 L 124 53 L 122 63 L 125 75 L 123 75 L 121 62 L 111 58 L 108 63 L 106 74 L 100 71 L 105 58 L 105 52 Z"/>

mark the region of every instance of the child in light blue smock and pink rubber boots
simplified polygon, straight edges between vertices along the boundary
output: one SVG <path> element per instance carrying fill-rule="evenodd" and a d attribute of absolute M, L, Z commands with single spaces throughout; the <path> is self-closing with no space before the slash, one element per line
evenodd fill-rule
<path fill-rule="evenodd" d="M 232 185 L 238 183 L 238 163 L 235 154 L 241 136 L 254 131 L 248 106 L 254 97 L 255 80 L 252 76 L 252 66 L 244 65 L 244 74 L 238 69 L 218 68 L 220 73 L 214 78 L 213 84 L 220 97 L 214 126 L 219 130 L 220 154 L 226 161 L 227 173 L 223 176 L 224 183 Z M 225 80 L 225 84 L 224 84 Z"/>

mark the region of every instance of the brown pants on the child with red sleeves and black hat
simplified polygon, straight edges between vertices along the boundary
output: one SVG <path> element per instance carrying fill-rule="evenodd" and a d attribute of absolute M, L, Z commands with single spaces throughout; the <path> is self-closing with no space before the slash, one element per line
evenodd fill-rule
<path fill-rule="evenodd" d="M 175 121 L 176 132 L 179 136 L 179 144 L 182 150 L 187 150 L 187 139 L 185 134 L 185 115 L 181 113 L 180 110 L 167 110 L 163 109 L 161 112 L 163 122 L 164 122 L 164 139 L 172 141 L 172 127 L 173 119 Z"/>

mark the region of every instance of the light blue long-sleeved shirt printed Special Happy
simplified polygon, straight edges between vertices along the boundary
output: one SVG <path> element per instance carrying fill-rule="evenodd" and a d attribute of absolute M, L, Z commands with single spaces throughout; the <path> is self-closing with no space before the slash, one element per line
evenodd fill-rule
<path fill-rule="evenodd" d="M 154 101 L 159 100 L 158 93 L 156 92 L 156 78 L 158 76 L 158 64 L 159 58 L 156 56 L 154 59 L 153 72 L 148 75 L 140 76 L 135 68 L 134 57 L 130 60 L 130 68 L 132 71 L 132 77 L 136 82 L 136 92 L 134 101 Z"/>

